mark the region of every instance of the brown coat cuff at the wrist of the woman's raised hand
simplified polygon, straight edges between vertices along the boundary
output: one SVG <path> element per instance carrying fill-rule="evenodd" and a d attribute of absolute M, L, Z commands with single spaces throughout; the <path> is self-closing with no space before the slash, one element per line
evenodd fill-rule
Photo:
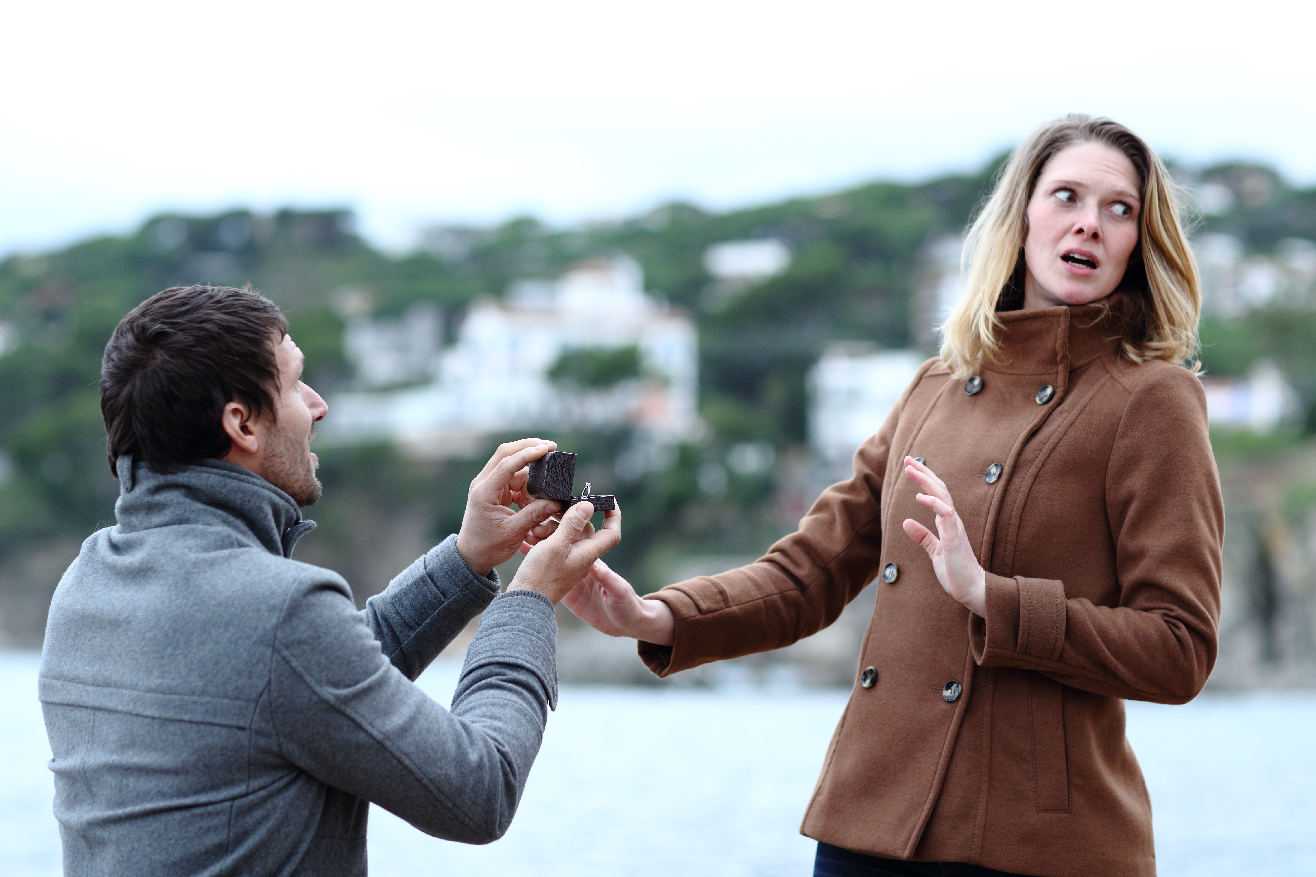
<path fill-rule="evenodd" d="M 1059 660 L 1065 647 L 1065 584 L 1054 579 L 1005 579 L 987 573 L 987 617 L 973 615 L 969 642 L 974 660 L 1026 655 Z"/>

